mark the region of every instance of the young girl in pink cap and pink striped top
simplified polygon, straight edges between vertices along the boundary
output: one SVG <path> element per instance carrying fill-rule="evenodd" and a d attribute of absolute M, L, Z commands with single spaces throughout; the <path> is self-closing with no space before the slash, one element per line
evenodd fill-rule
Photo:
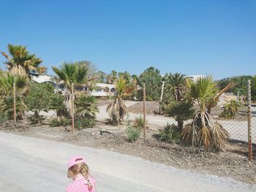
<path fill-rule="evenodd" d="M 67 192 L 97 192 L 95 180 L 89 176 L 89 166 L 83 157 L 75 156 L 70 159 L 67 177 L 73 180 L 67 186 Z"/>

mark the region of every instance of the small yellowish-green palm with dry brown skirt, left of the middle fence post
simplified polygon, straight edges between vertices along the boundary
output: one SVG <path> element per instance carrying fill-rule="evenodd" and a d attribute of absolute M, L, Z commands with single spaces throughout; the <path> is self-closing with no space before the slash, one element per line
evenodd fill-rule
<path fill-rule="evenodd" d="M 116 96 L 110 104 L 108 104 L 107 112 L 112 119 L 114 126 L 121 123 L 121 120 L 124 120 L 124 115 L 127 114 L 127 107 L 124 104 L 123 97 L 129 96 L 134 88 L 128 86 L 126 80 L 123 77 L 119 77 L 115 82 L 116 87 Z"/>

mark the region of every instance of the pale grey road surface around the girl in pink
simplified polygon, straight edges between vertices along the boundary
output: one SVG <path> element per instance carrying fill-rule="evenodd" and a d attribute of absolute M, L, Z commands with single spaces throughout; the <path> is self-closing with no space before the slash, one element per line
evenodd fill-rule
<path fill-rule="evenodd" d="M 67 160 L 83 155 L 98 191 L 254 191 L 211 175 L 192 174 L 141 158 L 0 131 L 0 191 L 64 191 Z"/>

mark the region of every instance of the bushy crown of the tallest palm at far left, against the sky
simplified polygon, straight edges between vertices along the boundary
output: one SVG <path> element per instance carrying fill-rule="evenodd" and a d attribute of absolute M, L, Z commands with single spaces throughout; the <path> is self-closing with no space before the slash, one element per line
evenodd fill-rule
<path fill-rule="evenodd" d="M 44 72 L 46 69 L 39 67 L 39 64 L 42 63 L 42 59 L 37 58 L 35 54 L 30 54 L 26 47 L 22 45 L 7 45 L 8 51 L 11 55 L 2 52 L 1 54 L 7 58 L 7 68 L 11 71 L 22 71 L 30 78 L 30 72 L 32 70 Z"/>

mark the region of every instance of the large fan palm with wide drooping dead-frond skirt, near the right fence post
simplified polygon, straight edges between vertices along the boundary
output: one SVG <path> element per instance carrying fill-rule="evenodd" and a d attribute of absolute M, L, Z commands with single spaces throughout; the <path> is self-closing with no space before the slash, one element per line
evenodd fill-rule
<path fill-rule="evenodd" d="M 228 132 L 209 114 L 207 104 L 217 95 L 219 89 L 211 76 L 187 80 L 187 97 L 199 104 L 200 110 L 182 131 L 184 140 L 192 145 L 204 146 L 206 150 L 222 150 L 229 138 Z"/>

